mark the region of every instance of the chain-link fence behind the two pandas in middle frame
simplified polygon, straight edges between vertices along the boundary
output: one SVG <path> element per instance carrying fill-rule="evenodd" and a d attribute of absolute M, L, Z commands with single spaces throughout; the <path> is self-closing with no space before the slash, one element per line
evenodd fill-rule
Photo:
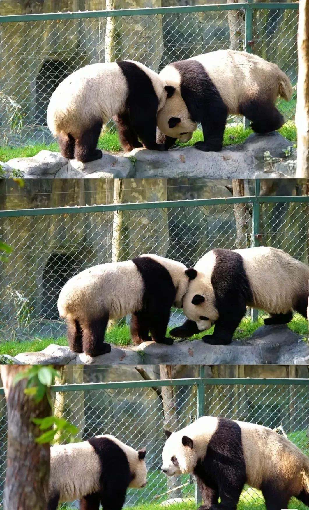
<path fill-rule="evenodd" d="M 259 245 L 308 263 L 308 213 L 307 196 L 0 211 L 0 238 L 13 247 L 0 262 L 0 340 L 64 336 L 59 292 L 92 265 L 156 253 L 192 266 L 214 248 Z M 174 310 L 170 325 L 183 319 Z"/>

